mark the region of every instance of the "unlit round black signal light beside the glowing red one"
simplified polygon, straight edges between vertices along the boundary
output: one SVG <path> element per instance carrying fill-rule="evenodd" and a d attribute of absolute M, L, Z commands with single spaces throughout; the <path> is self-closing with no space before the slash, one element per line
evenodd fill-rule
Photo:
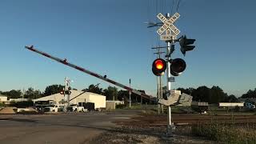
<path fill-rule="evenodd" d="M 186 69 L 186 62 L 182 58 L 175 58 L 170 61 L 170 74 L 178 76 Z"/>

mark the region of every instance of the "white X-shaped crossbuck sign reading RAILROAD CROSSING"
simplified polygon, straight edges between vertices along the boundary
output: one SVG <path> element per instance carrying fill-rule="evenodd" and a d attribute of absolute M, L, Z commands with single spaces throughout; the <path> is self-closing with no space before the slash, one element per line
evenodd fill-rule
<path fill-rule="evenodd" d="M 163 22 L 163 25 L 158 29 L 157 33 L 161 36 L 163 32 L 166 31 L 166 35 L 170 35 L 170 30 L 174 35 L 178 35 L 180 30 L 176 26 L 174 26 L 174 22 L 179 18 L 179 14 L 175 13 L 170 19 L 167 19 L 161 13 L 158 14 L 157 18 Z"/>

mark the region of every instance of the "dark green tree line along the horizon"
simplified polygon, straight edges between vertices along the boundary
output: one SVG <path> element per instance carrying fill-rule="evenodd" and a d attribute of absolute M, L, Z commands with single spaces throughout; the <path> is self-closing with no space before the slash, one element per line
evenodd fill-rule
<path fill-rule="evenodd" d="M 50 85 L 46 86 L 46 90 L 41 92 L 40 90 L 34 90 L 30 87 L 22 93 L 21 90 L 10 90 L 10 91 L 0 91 L 0 94 L 6 95 L 8 98 L 42 98 L 51 94 L 57 94 L 62 91 L 64 86 L 62 85 Z M 71 87 L 69 88 L 72 89 Z M 73 90 L 76 90 L 73 88 Z M 238 102 L 238 98 L 234 94 L 226 94 L 222 88 L 219 86 L 212 86 L 208 88 L 207 86 L 199 86 L 198 88 L 178 88 L 182 93 L 190 94 L 193 96 L 193 101 L 197 102 L 209 102 L 209 103 L 218 103 L 218 102 Z M 88 88 L 83 89 L 82 91 L 92 92 L 95 94 L 102 94 L 106 96 L 106 100 L 124 100 L 129 102 L 129 91 L 128 90 L 118 90 L 115 86 L 108 86 L 106 89 L 102 89 L 97 85 L 91 84 Z M 145 94 L 144 90 L 138 90 Z M 256 98 L 256 88 L 254 90 L 248 90 L 246 94 L 242 94 L 241 98 Z M 141 102 L 141 96 L 138 94 L 131 94 L 132 102 Z M 144 99 L 143 102 L 148 100 Z"/>

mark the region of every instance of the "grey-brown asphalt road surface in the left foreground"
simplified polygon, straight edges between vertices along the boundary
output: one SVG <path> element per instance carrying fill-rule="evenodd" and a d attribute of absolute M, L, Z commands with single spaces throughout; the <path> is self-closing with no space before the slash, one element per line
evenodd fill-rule
<path fill-rule="evenodd" d="M 114 121 L 132 116 L 134 114 L 0 115 L 0 143 L 88 143 L 114 128 Z"/>

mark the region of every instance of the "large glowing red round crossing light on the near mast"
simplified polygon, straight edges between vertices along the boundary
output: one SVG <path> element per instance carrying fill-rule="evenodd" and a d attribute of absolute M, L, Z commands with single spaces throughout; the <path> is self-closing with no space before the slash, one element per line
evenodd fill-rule
<path fill-rule="evenodd" d="M 162 58 L 157 58 L 152 63 L 152 72 L 156 76 L 163 75 L 166 70 L 166 61 Z"/>

